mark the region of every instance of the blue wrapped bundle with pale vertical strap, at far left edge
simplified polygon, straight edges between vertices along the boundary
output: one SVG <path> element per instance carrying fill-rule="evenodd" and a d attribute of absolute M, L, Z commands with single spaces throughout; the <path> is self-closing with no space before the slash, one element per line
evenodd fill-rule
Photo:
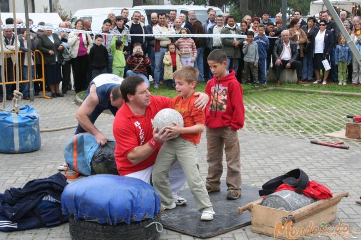
<path fill-rule="evenodd" d="M 29 105 L 20 107 L 18 114 L 0 111 L 0 129 L 0 152 L 30 152 L 41 146 L 39 115 Z"/>

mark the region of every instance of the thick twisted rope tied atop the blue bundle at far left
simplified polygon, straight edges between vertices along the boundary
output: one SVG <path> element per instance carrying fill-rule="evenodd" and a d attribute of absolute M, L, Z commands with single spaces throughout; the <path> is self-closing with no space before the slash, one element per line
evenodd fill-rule
<path fill-rule="evenodd" d="M 12 14 L 14 18 L 14 23 L 16 23 L 16 7 L 15 0 L 12 0 Z M 16 69 L 16 90 L 14 91 L 14 97 L 12 98 L 12 111 L 15 113 L 19 112 L 19 104 L 18 101 L 21 99 L 22 94 L 19 92 L 19 42 L 17 36 L 17 26 L 14 24 L 14 34 L 15 34 L 15 69 Z"/>

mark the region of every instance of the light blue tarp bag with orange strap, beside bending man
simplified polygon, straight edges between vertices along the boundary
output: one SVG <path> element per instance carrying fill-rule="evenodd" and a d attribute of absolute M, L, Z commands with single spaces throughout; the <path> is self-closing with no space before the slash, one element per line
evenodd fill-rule
<path fill-rule="evenodd" d="M 80 133 L 69 139 L 65 144 L 64 158 L 69 168 L 76 174 L 67 178 L 76 178 L 79 173 L 90 176 L 92 157 L 98 148 L 99 144 L 90 133 Z"/>

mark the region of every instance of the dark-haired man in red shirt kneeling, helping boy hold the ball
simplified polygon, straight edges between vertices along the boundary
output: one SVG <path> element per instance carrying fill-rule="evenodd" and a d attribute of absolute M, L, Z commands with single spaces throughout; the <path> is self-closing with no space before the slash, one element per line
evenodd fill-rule
<path fill-rule="evenodd" d="M 134 177 L 150 183 L 150 175 L 160 146 L 173 136 L 165 128 L 153 130 L 153 118 L 158 111 L 169 108 L 171 98 L 151 96 L 147 84 L 138 76 L 129 76 L 120 86 L 126 104 L 118 110 L 113 135 L 116 139 L 115 157 L 121 176 Z M 204 93 L 197 93 L 196 107 L 203 108 L 209 100 Z M 185 182 L 181 165 L 176 162 L 170 170 L 172 192 L 177 193 Z M 176 204 L 185 201 L 175 195 Z"/>

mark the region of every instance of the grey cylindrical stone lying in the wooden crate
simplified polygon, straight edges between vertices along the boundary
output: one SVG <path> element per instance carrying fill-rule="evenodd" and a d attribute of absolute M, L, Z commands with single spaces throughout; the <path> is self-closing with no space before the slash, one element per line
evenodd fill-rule
<path fill-rule="evenodd" d="M 290 190 L 282 190 L 267 195 L 262 200 L 261 205 L 286 211 L 295 211 L 315 201 L 317 201 L 316 198 L 311 198 Z"/>

